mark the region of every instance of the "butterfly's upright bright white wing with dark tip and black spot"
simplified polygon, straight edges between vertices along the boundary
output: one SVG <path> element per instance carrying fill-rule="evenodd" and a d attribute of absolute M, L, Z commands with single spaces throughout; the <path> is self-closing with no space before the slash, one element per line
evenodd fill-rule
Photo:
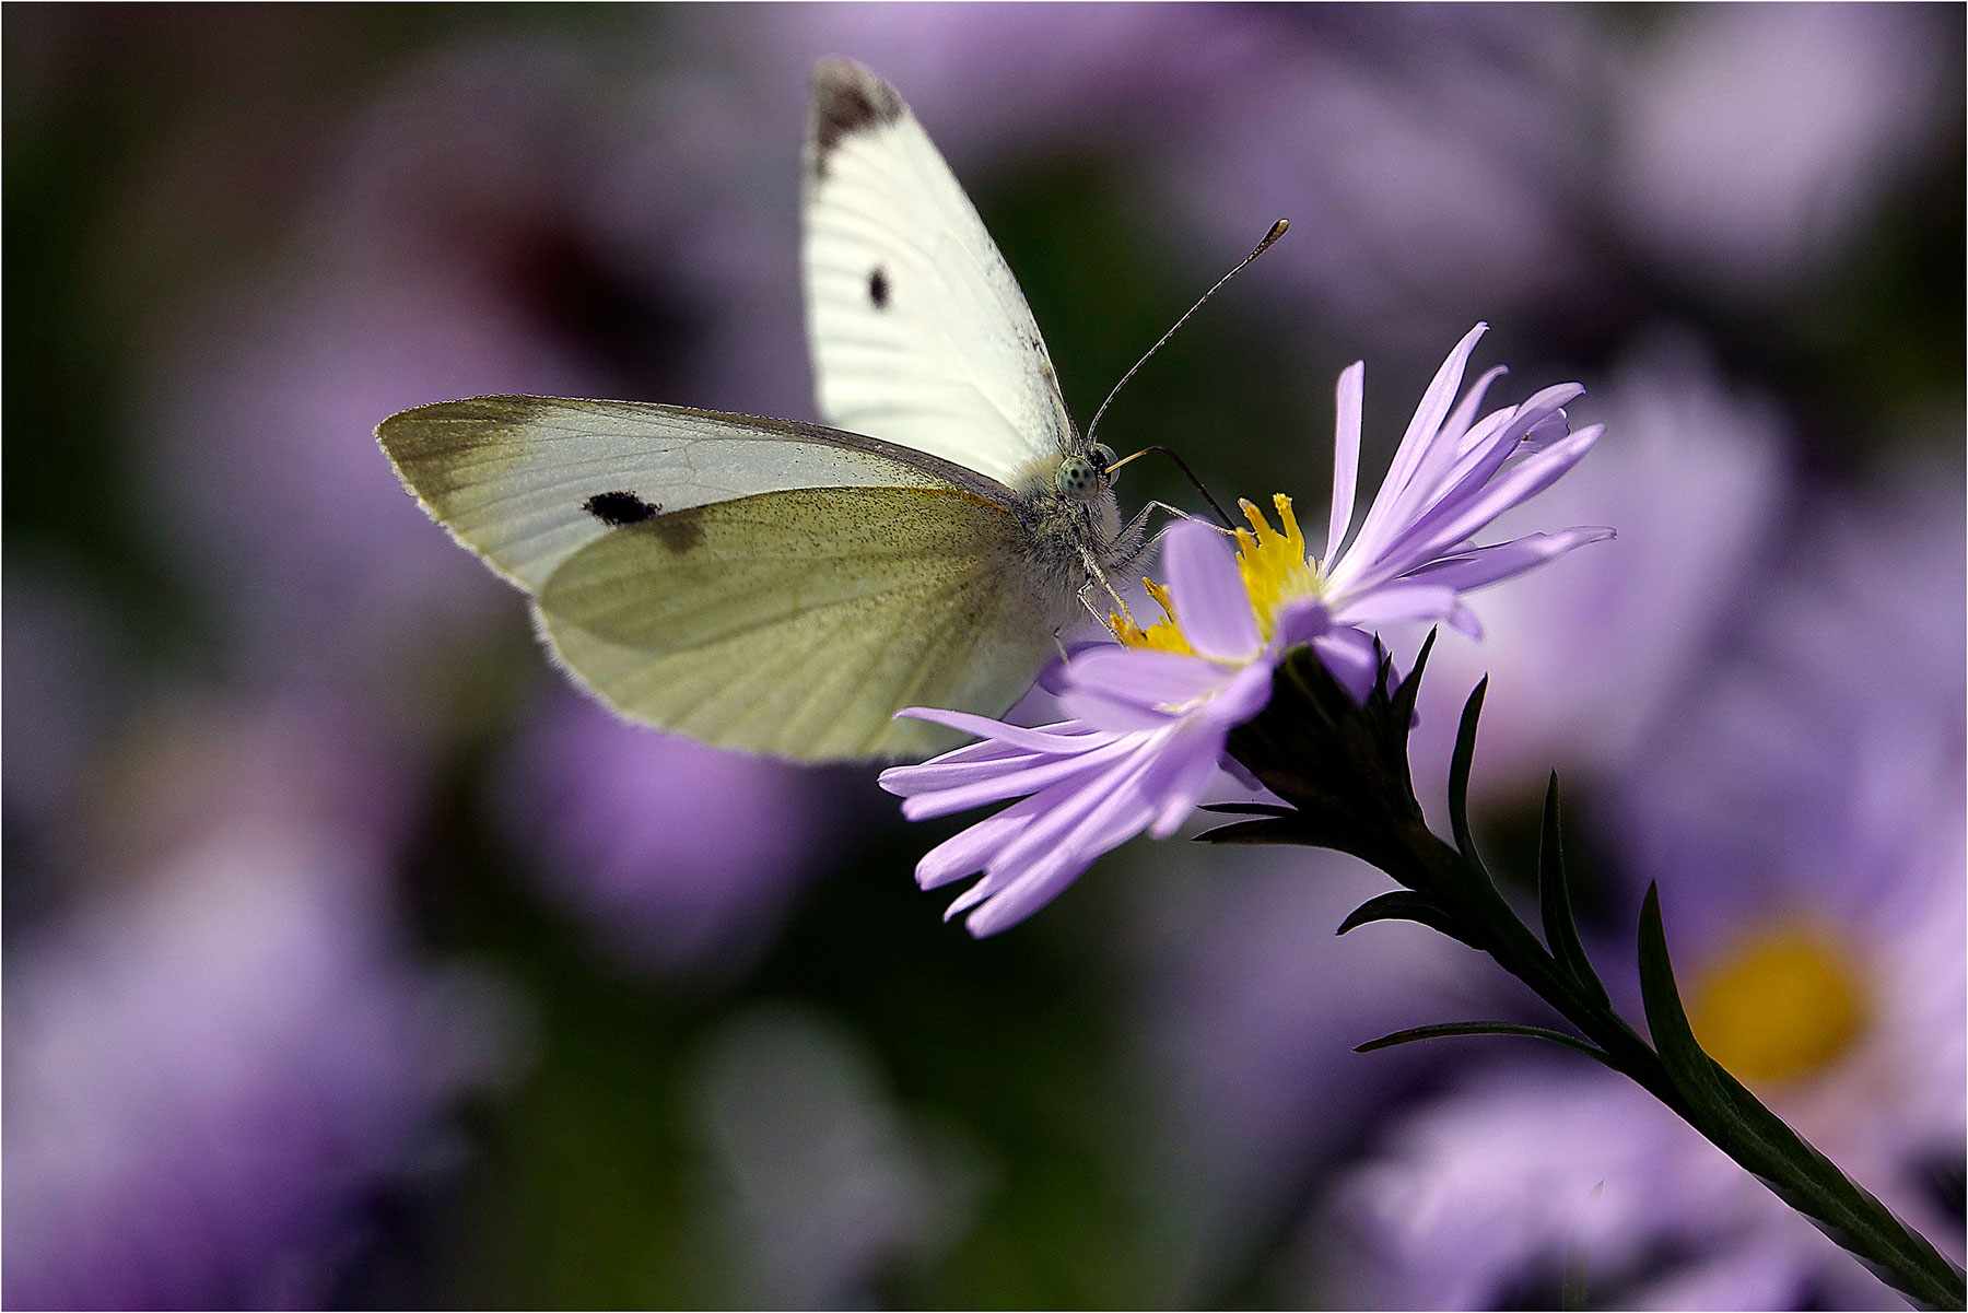
<path fill-rule="evenodd" d="M 895 91 L 813 75 L 807 329 L 829 423 L 1049 480 L 1075 437 L 1045 341 L 962 187 Z"/>

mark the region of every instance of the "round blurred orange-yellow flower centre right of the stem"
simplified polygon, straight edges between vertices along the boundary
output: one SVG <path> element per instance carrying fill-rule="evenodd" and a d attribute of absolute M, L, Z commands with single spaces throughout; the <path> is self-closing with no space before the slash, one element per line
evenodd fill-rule
<path fill-rule="evenodd" d="M 1740 939 L 1698 982 L 1689 1022 L 1755 1091 L 1830 1067 L 1864 1033 L 1864 980 L 1828 931 L 1791 923 Z"/>

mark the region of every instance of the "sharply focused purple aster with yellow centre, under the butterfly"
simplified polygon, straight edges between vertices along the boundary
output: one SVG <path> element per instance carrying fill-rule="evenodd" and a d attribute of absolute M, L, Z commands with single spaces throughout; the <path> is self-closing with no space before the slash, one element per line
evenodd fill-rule
<path fill-rule="evenodd" d="M 1350 543 L 1358 362 L 1338 382 L 1322 561 L 1307 551 L 1285 496 L 1273 500 L 1281 530 L 1244 502 L 1252 528 L 1236 531 L 1234 559 L 1216 530 L 1177 524 L 1163 543 L 1169 587 L 1149 585 L 1167 620 L 1141 628 L 1116 614 L 1116 646 L 1071 656 L 1057 675 L 1067 720 L 1021 728 L 923 707 L 899 713 L 982 740 L 882 772 L 882 787 L 907 799 L 911 821 L 1021 799 L 923 856 L 915 872 L 923 888 L 984 872 L 949 915 L 976 907 L 970 933 L 996 933 L 1051 902 L 1108 848 L 1143 829 L 1157 839 L 1173 835 L 1216 776 L 1230 730 L 1269 701 L 1271 673 L 1291 648 L 1311 644 L 1334 677 L 1364 697 L 1380 661 L 1378 626 L 1448 620 L 1478 632 L 1462 593 L 1612 535 L 1574 528 L 1474 543 L 1474 533 L 1551 486 L 1600 435 L 1598 425 L 1567 427 L 1565 404 L 1582 392 L 1578 384 L 1545 388 L 1478 419 L 1502 374 L 1496 368 L 1458 402 L 1484 329 L 1464 335 L 1429 384 Z"/>

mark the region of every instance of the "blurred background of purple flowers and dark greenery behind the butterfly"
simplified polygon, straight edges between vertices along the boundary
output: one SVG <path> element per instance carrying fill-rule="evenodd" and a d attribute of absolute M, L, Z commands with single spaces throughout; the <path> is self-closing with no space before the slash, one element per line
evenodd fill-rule
<path fill-rule="evenodd" d="M 1631 1000 L 1962 1250 L 1960 6 L 8 6 L 4 1297 L 1850 1307 L 1891 1297 L 1315 852 L 1136 843 L 986 943 L 870 770 L 624 726 L 372 429 L 815 417 L 805 77 L 911 100 L 1075 413 L 1322 508 L 1470 323 L 1608 435 L 1476 598 L 1496 866 L 1568 785 Z M 1147 463 L 1124 504 L 1185 498 Z M 1315 518 L 1313 514 L 1307 516 Z M 1389 636 L 1395 646 L 1417 636 Z M 1602 1189 L 1594 1189 L 1602 1185 Z"/>

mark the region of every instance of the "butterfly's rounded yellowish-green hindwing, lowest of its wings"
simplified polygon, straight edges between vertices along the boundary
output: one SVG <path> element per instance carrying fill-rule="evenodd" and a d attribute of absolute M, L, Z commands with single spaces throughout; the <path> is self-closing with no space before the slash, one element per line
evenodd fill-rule
<path fill-rule="evenodd" d="M 895 709 L 1002 713 L 1047 657 L 1059 602 L 1019 547 L 1010 512 L 958 490 L 768 492 L 592 541 L 539 624 L 638 720 L 809 760 L 921 756 L 947 734 Z"/>

